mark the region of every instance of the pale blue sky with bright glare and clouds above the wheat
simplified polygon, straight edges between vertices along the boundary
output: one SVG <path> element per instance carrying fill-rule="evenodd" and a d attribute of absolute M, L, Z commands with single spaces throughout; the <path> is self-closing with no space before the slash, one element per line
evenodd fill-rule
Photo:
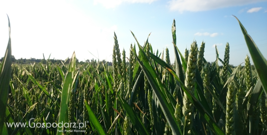
<path fill-rule="evenodd" d="M 244 62 L 249 51 L 235 15 L 267 58 L 266 0 L 92 0 L 92 1 L 1 1 L 0 57 L 8 42 L 11 24 L 12 55 L 19 58 L 66 59 L 73 51 L 79 61 L 112 61 L 113 32 L 120 50 L 129 57 L 131 43 L 147 39 L 153 50 L 169 48 L 174 62 L 171 26 L 176 20 L 177 46 L 184 52 L 193 40 L 204 57 L 215 61 L 216 44 L 223 59 L 226 42 L 230 44 L 230 64 Z M 165 52 L 165 51 L 164 51 Z M 99 55 L 99 56 L 98 56 Z M 250 55 L 250 54 L 249 54 Z M 251 60 L 252 61 L 252 60 Z"/>

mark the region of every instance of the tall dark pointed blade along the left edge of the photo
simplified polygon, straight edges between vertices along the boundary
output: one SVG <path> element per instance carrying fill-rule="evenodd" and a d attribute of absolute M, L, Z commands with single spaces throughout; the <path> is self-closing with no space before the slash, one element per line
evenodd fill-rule
<path fill-rule="evenodd" d="M 9 81 L 11 76 L 11 37 L 10 37 L 10 22 L 8 17 L 9 39 L 6 48 L 6 53 L 0 66 L 0 133 L 3 131 L 6 105 L 8 98 Z"/>

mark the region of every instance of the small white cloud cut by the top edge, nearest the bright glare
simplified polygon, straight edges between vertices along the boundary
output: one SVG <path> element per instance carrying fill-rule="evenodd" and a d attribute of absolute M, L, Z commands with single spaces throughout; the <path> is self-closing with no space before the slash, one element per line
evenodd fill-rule
<path fill-rule="evenodd" d="M 157 0 L 94 0 L 94 5 L 102 4 L 105 8 L 115 8 L 122 3 L 149 3 Z"/>

